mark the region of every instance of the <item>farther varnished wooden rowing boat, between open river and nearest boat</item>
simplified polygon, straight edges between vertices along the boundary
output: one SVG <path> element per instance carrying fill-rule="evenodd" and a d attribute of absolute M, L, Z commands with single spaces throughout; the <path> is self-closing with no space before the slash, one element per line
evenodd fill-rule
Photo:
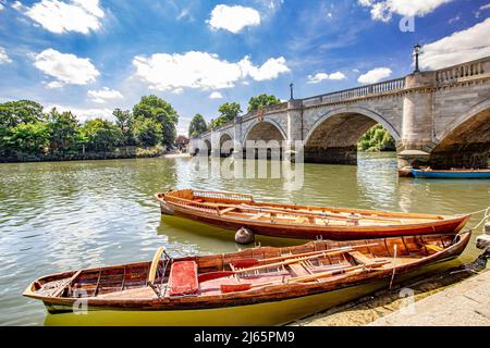
<path fill-rule="evenodd" d="M 163 214 L 273 237 L 333 240 L 457 233 L 469 215 L 432 215 L 256 202 L 252 195 L 181 189 L 157 194 Z"/>

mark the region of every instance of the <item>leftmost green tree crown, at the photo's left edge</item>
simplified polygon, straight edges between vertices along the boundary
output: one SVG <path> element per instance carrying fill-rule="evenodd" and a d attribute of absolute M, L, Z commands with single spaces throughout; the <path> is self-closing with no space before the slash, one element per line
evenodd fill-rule
<path fill-rule="evenodd" d="M 15 127 L 21 123 L 44 121 L 42 107 L 32 100 L 0 103 L 0 127 Z"/>

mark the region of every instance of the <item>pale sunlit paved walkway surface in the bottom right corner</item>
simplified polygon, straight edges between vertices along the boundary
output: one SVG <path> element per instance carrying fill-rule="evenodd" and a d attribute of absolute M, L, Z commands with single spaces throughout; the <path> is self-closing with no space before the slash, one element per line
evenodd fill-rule
<path fill-rule="evenodd" d="M 368 326 L 490 326 L 490 271 L 390 313 Z"/>

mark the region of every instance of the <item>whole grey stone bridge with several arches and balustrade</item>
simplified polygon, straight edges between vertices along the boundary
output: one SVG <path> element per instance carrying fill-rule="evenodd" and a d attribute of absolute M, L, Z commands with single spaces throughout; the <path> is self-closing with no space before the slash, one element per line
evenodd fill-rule
<path fill-rule="evenodd" d="M 358 139 L 378 123 L 396 140 L 399 167 L 487 166 L 490 57 L 291 99 L 191 139 L 191 151 L 207 148 L 213 156 L 243 157 L 247 140 L 280 140 L 289 146 L 301 140 L 305 162 L 355 164 Z"/>

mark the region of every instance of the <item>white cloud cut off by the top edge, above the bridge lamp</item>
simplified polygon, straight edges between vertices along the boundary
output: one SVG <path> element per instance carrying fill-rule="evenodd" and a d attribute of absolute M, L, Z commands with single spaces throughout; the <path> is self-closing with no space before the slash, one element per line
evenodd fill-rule
<path fill-rule="evenodd" d="M 393 13 L 403 16 L 424 16 L 452 0 L 358 0 L 362 7 L 371 9 L 371 18 L 389 22 Z"/>

